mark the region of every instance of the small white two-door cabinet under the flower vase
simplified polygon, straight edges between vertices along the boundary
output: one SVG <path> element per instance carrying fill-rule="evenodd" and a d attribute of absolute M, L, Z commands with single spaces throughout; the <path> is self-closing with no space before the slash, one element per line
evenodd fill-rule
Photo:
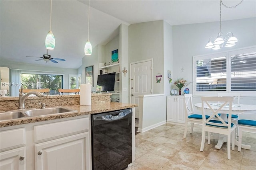
<path fill-rule="evenodd" d="M 167 96 L 167 122 L 185 123 L 184 96 Z"/>

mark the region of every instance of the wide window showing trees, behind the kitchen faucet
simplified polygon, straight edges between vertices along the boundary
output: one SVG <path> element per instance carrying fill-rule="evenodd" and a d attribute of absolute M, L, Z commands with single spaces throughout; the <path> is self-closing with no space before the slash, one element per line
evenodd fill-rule
<path fill-rule="evenodd" d="M 62 88 L 63 76 L 51 74 L 21 74 L 21 82 L 24 88 L 42 89 L 49 88 L 50 94 L 58 94 L 58 89 Z"/>

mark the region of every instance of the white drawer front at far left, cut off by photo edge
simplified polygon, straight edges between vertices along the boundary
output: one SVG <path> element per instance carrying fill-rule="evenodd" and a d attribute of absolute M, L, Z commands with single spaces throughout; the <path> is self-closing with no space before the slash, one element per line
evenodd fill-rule
<path fill-rule="evenodd" d="M 11 149 L 26 144 L 25 127 L 0 132 L 0 148 Z"/>

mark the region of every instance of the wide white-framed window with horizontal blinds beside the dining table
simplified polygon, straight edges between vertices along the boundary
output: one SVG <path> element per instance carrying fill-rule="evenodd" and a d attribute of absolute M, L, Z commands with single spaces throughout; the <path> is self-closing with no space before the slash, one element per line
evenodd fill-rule
<path fill-rule="evenodd" d="M 256 94 L 256 47 L 193 57 L 194 95 Z"/>

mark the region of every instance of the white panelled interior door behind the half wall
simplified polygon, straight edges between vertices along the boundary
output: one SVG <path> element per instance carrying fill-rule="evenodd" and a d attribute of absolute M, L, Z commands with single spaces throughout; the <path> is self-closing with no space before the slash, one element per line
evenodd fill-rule
<path fill-rule="evenodd" d="M 138 95 L 152 94 L 152 61 L 131 64 L 131 103 L 139 104 Z M 139 118 L 135 107 L 135 118 Z"/>

